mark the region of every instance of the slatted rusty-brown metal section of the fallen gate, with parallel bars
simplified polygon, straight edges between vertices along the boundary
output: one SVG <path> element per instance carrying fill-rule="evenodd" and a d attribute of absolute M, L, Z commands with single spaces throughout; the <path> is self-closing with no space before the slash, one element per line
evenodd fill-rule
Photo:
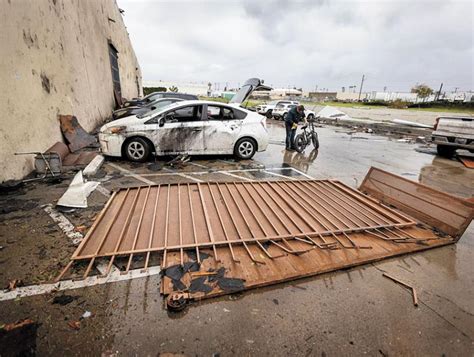
<path fill-rule="evenodd" d="M 122 189 L 115 192 L 72 256 L 73 261 L 110 257 L 109 269 L 118 256 L 144 254 L 145 269 L 150 254 L 159 253 L 162 267 L 170 252 L 211 248 L 219 260 L 218 247 L 234 256 L 242 245 L 254 263 L 261 259 L 251 252 L 254 244 L 272 257 L 263 243 L 290 254 L 288 240 L 318 240 L 321 247 L 336 243 L 348 249 L 358 246 L 350 235 L 412 226 L 409 217 L 367 201 L 364 195 L 337 181 L 255 181 L 163 184 Z M 400 237 L 398 239 L 401 239 Z M 234 257 L 234 260 L 238 259 Z"/>

